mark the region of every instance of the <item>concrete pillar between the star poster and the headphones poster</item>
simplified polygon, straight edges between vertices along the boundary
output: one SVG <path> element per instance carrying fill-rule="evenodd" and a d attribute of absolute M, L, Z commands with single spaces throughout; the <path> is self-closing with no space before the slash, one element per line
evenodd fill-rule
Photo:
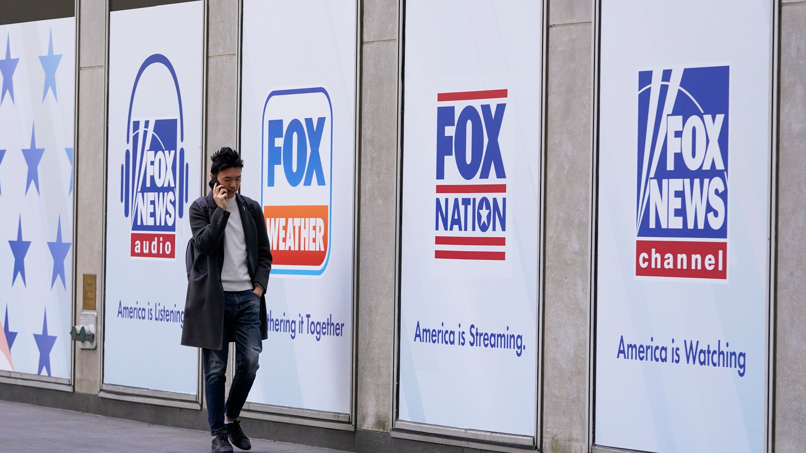
<path fill-rule="evenodd" d="M 103 243 L 106 170 L 106 3 L 104 0 L 80 0 L 78 48 L 78 135 L 75 162 L 77 178 L 73 197 L 76 198 L 77 239 L 75 304 L 76 319 L 81 313 L 82 276 L 98 276 L 96 304 L 98 331 L 103 325 Z M 102 343 L 99 335 L 98 344 Z M 82 393 L 98 393 L 101 389 L 100 347 L 87 350 L 75 348 L 75 389 Z"/>

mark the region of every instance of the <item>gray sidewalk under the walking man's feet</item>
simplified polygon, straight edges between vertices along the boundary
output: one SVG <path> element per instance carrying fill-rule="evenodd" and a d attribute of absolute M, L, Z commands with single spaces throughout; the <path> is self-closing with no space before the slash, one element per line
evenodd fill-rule
<path fill-rule="evenodd" d="M 211 440 L 210 434 L 202 431 L 0 401 L 0 451 L 206 453 Z M 271 440 L 253 438 L 251 443 L 255 453 L 335 453 Z"/>

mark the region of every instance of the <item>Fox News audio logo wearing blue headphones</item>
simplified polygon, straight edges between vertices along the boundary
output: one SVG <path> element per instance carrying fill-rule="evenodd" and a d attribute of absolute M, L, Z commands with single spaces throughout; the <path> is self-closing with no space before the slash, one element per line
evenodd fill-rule
<path fill-rule="evenodd" d="M 148 70 L 147 70 L 148 69 Z M 175 99 L 161 98 L 140 86 L 168 85 Z M 161 93 L 161 92 L 160 92 Z M 162 105 L 152 108 L 154 103 Z M 150 110 L 159 114 L 151 115 Z M 172 114 L 165 114 L 173 111 Z M 163 55 L 143 61 L 131 87 L 120 202 L 131 220 L 131 258 L 174 260 L 177 219 L 185 216 L 189 164 L 185 162 L 182 98 L 173 65 Z"/>

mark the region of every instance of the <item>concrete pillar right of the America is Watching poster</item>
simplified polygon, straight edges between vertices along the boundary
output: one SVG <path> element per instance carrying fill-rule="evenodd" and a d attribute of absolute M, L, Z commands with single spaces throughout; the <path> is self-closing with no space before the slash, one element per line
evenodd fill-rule
<path fill-rule="evenodd" d="M 775 452 L 806 445 L 806 2 L 783 2 L 780 33 Z"/>

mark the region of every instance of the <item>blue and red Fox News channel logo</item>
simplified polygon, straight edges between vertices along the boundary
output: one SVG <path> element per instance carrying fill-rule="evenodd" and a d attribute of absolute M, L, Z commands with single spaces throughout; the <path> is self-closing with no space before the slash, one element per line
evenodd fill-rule
<path fill-rule="evenodd" d="M 636 276 L 728 278 L 729 76 L 638 73 Z"/>

